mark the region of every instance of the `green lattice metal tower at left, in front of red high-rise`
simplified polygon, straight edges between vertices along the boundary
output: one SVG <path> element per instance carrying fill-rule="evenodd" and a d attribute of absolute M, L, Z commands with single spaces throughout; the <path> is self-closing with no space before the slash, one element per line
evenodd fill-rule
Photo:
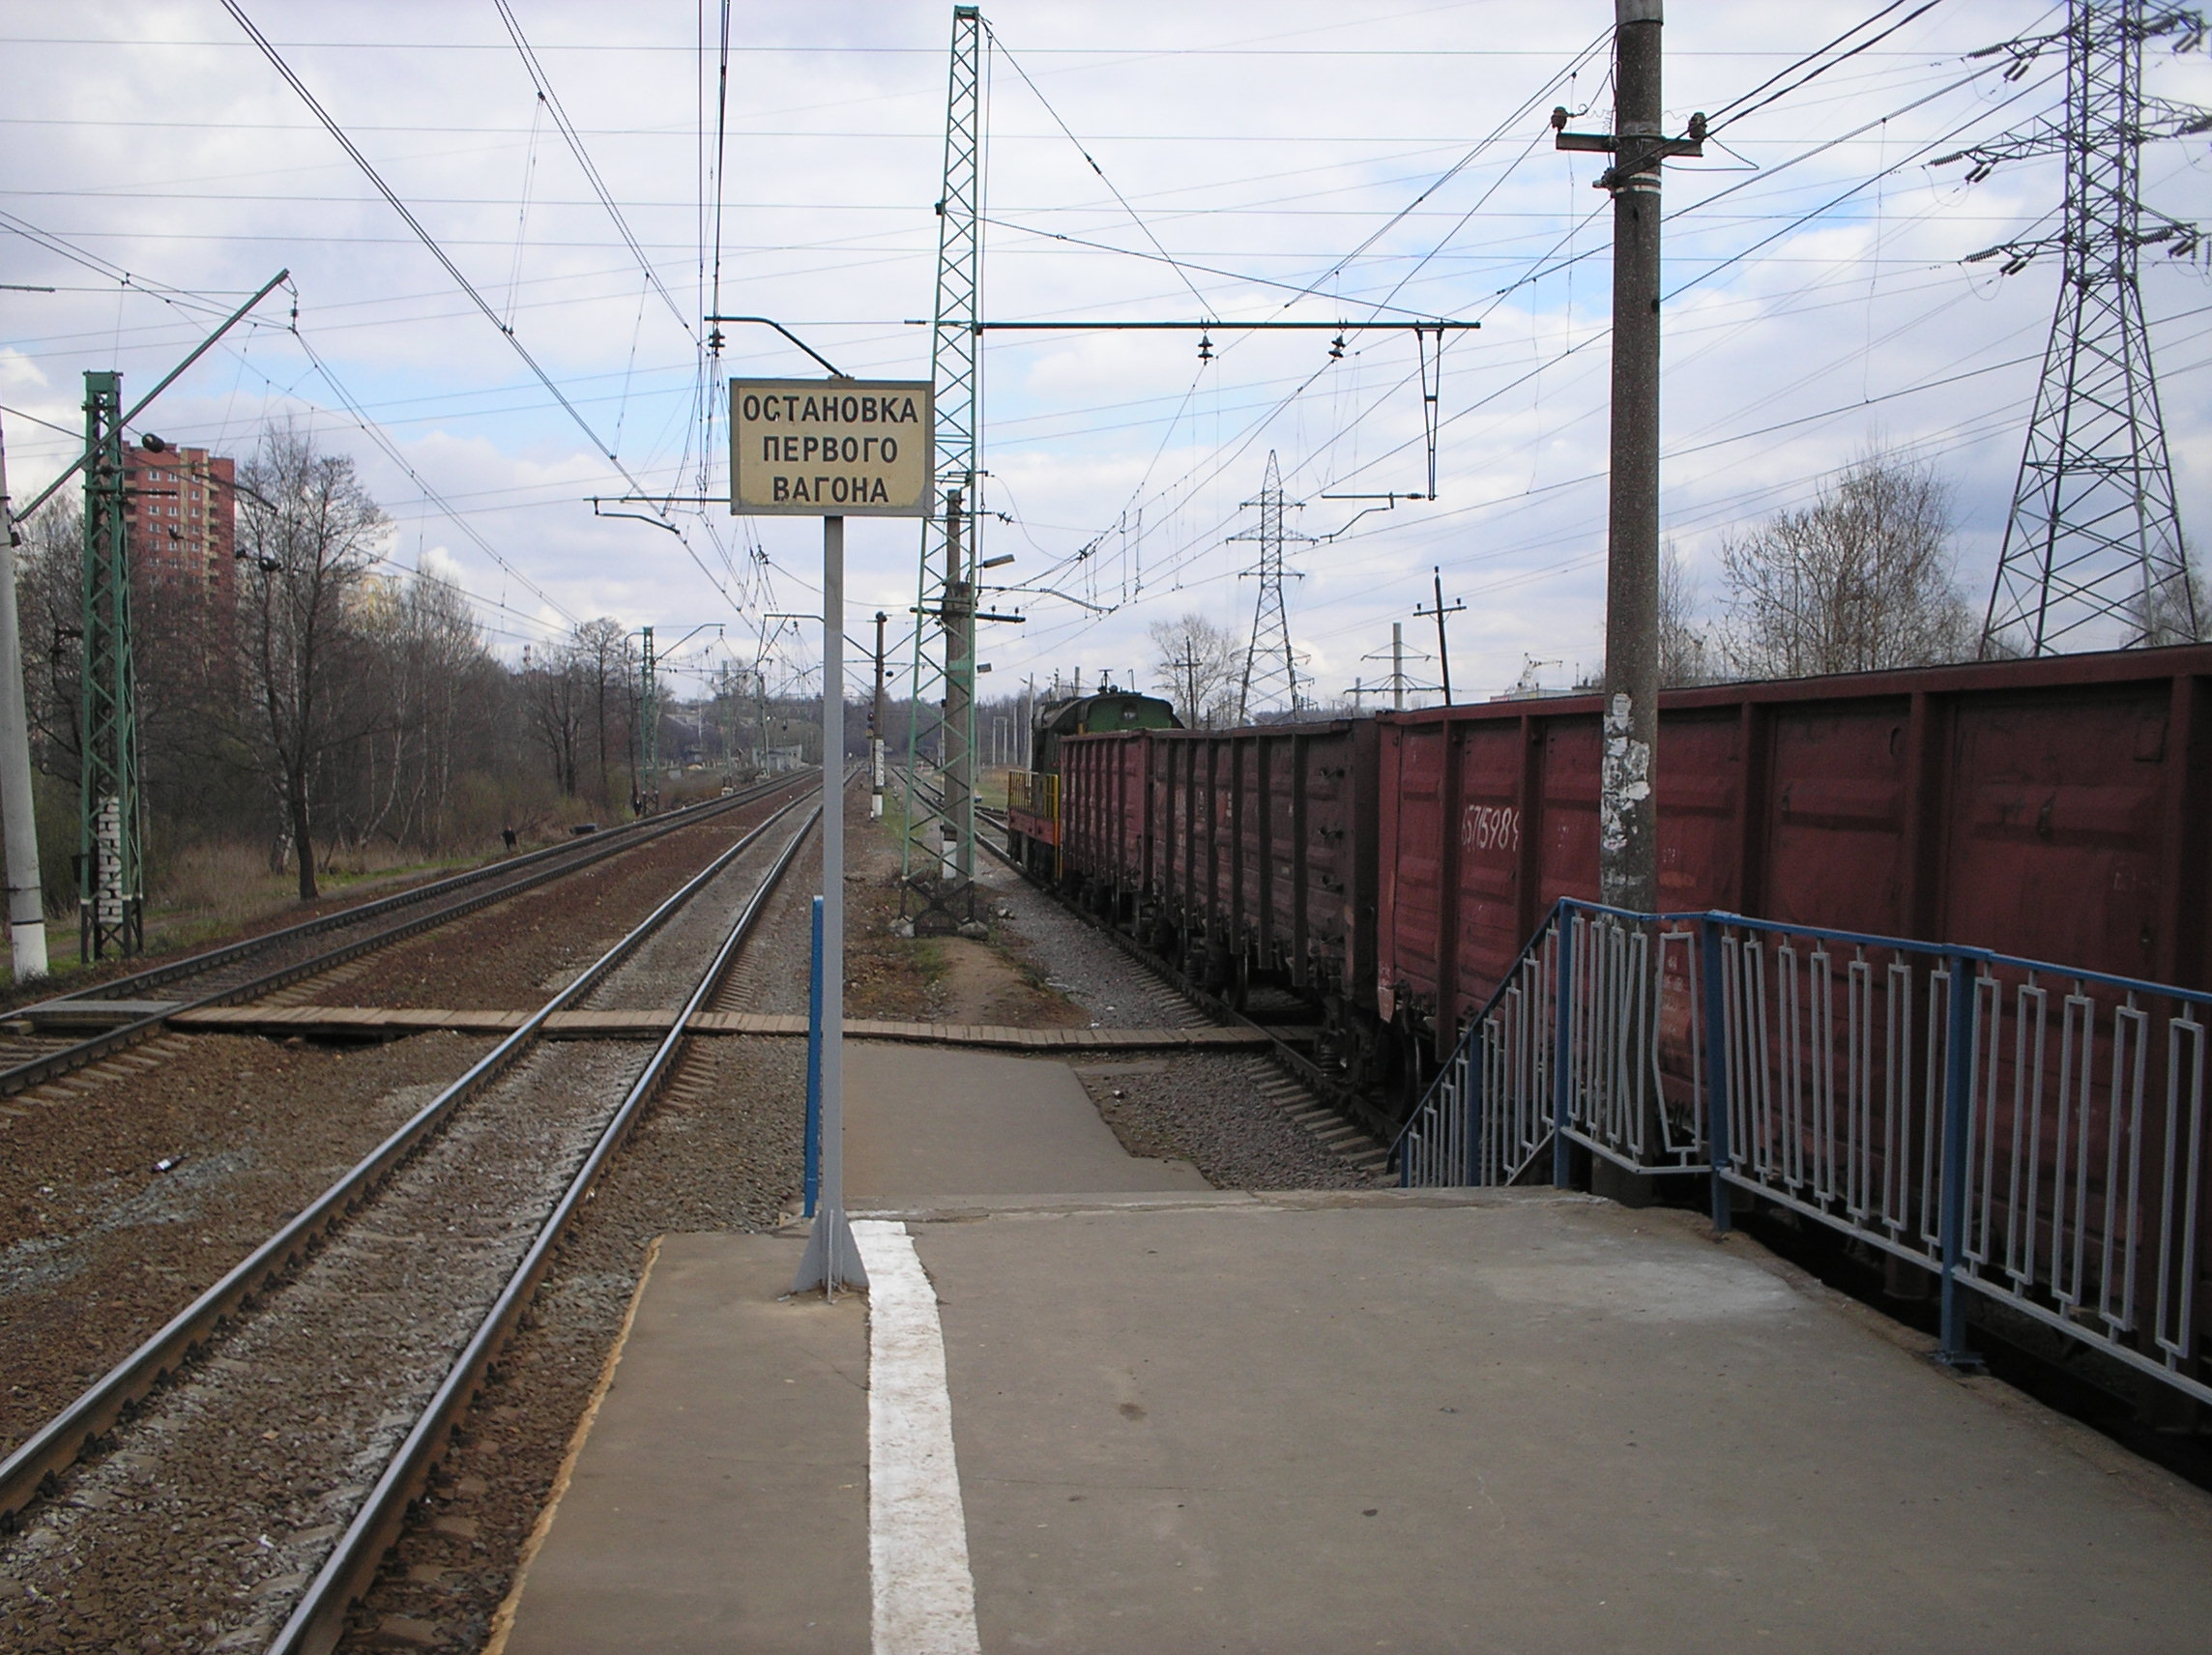
<path fill-rule="evenodd" d="M 77 943 L 86 962 L 146 947 L 137 668 L 124 538 L 124 376 L 84 376 L 84 743 L 77 766 Z"/>

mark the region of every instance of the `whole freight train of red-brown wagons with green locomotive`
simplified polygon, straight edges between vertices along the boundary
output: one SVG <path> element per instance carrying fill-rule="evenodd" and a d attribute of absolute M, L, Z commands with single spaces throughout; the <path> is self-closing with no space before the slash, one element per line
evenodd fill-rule
<path fill-rule="evenodd" d="M 1048 726 L 1042 728 L 1042 726 Z M 1559 896 L 1597 896 L 1599 701 L 1172 728 L 1040 717 L 1011 847 L 1199 987 L 1294 998 L 1389 1115 Z M 2212 987 L 2212 648 L 1668 690 L 1668 909 Z"/>

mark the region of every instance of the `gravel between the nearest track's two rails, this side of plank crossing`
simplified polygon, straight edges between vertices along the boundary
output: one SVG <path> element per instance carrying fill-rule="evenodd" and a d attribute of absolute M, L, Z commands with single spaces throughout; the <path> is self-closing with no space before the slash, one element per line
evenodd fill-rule
<path fill-rule="evenodd" d="M 531 1051 L 0 1551 L 0 1642 L 259 1648 L 520 1261 L 644 1042 Z"/>

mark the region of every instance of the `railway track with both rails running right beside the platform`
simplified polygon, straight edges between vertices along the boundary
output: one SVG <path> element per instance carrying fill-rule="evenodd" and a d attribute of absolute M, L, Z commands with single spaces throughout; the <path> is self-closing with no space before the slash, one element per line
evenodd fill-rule
<path fill-rule="evenodd" d="M 799 799 L 723 852 L 0 1463 L 0 1575 L 71 1622 L 40 1646 L 334 1646 L 816 821 Z M 672 998 L 650 1055 L 538 1038 L 560 1009 Z"/>

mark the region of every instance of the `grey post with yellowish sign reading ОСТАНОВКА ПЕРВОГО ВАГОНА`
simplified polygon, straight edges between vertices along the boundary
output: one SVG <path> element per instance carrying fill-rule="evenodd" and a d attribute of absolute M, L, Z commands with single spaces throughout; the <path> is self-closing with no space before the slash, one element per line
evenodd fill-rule
<path fill-rule="evenodd" d="M 845 1221 L 845 518 L 920 518 L 927 381 L 732 378 L 730 511 L 823 520 L 821 1197 L 792 1292 L 865 1288 Z"/>

